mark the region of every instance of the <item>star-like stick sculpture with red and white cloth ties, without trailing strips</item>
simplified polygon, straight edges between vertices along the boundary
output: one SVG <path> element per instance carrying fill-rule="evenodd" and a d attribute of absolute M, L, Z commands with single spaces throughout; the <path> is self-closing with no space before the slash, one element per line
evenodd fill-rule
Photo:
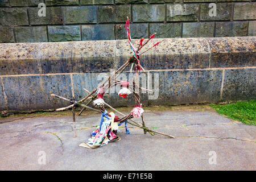
<path fill-rule="evenodd" d="M 133 52 L 133 56 L 130 57 L 129 60 L 127 60 L 125 62 L 125 64 L 123 64 L 119 69 L 117 69 L 117 71 L 115 71 L 112 75 L 110 75 L 108 77 L 108 79 L 106 79 L 104 82 L 102 82 L 102 84 L 100 86 L 98 86 L 96 89 L 94 89 L 92 92 L 89 92 L 88 90 L 85 90 L 85 92 L 88 92 L 88 95 L 84 98 L 82 98 L 82 100 L 80 101 L 76 101 L 75 98 L 72 99 L 67 99 L 61 96 L 57 96 L 55 94 L 51 94 L 51 96 L 53 97 L 57 97 L 57 98 L 61 98 L 63 100 L 69 101 L 71 103 L 71 105 L 67 106 L 67 107 L 62 107 L 59 109 L 56 109 L 56 111 L 62 111 L 62 110 L 67 110 L 72 108 L 72 113 L 73 113 L 73 123 L 74 123 L 74 133 L 75 133 L 75 137 L 76 137 L 76 125 L 75 125 L 75 107 L 83 107 L 82 110 L 80 111 L 79 115 L 82 113 L 82 111 L 84 111 L 85 109 L 90 109 L 90 110 L 94 110 L 94 111 L 98 111 L 100 113 L 105 113 L 106 116 L 109 117 L 113 117 L 112 113 L 108 113 L 105 110 L 104 105 L 108 106 L 110 109 L 113 109 L 115 112 L 117 112 L 118 114 L 121 114 L 122 117 L 118 117 L 114 115 L 114 122 L 117 123 L 122 123 L 122 122 L 127 122 L 130 125 L 139 127 L 141 129 L 144 130 L 144 134 L 146 134 L 147 132 L 151 135 L 155 135 L 155 134 L 159 134 L 159 135 L 164 135 L 166 137 L 170 137 L 170 138 L 174 138 L 171 135 L 167 135 L 164 133 L 160 133 L 158 131 L 154 131 L 151 129 L 148 129 L 145 126 L 145 122 L 144 122 L 144 117 L 143 117 L 143 109 L 142 109 L 142 103 L 141 103 L 141 97 L 139 96 L 139 92 L 136 92 L 136 87 L 138 87 L 141 90 L 147 90 L 148 92 L 150 92 L 151 90 L 148 90 L 146 88 L 142 88 L 141 86 L 139 86 L 139 82 L 138 82 L 138 75 L 139 73 L 142 71 L 145 71 L 144 68 L 141 65 L 141 60 L 140 60 L 140 55 L 142 55 L 142 53 L 148 51 L 149 49 L 156 47 L 156 45 L 158 45 L 160 42 L 157 42 L 156 44 L 154 44 L 154 46 L 150 47 L 149 49 L 147 49 L 146 51 L 139 53 L 139 51 L 151 40 L 154 38 L 154 36 L 156 35 L 156 33 L 152 34 L 147 40 L 146 42 L 143 43 L 144 38 L 142 38 L 139 41 L 139 46 L 137 49 L 134 48 L 133 44 L 131 43 L 131 36 L 130 36 L 130 21 L 129 18 L 127 17 L 127 21 L 125 24 L 125 28 L 127 30 L 127 39 L 129 41 L 130 44 L 130 48 L 131 51 Z M 121 81 L 121 80 L 116 80 L 116 78 L 118 77 L 118 75 L 120 75 L 123 71 L 125 71 L 125 69 L 127 67 L 129 67 L 129 65 L 131 65 L 131 70 L 134 67 L 134 72 L 136 72 L 137 74 L 134 74 L 135 76 L 133 76 L 133 81 L 132 82 L 127 82 L 127 81 Z M 136 80 L 137 78 L 137 80 Z M 122 97 L 127 97 L 127 94 L 133 93 L 134 96 L 134 100 L 135 100 L 135 107 L 133 108 L 133 110 L 125 115 L 123 113 L 121 113 L 120 111 L 114 109 L 112 106 L 110 106 L 108 103 L 106 103 L 103 100 L 104 97 L 104 93 L 106 90 L 108 90 L 109 88 L 111 88 L 112 86 L 116 86 L 116 85 L 120 85 L 122 86 L 122 89 L 120 90 L 120 92 L 118 93 L 119 96 Z M 137 89 L 138 90 L 138 89 Z M 96 99 L 97 98 L 97 99 Z M 95 100 L 96 99 L 96 100 Z M 87 102 L 86 102 L 87 101 Z M 98 107 L 98 109 L 94 109 L 93 107 L 88 106 L 91 102 L 93 101 L 94 105 L 96 105 L 96 107 Z M 86 102 L 85 104 L 82 104 L 83 102 Z M 132 118 L 138 118 L 141 117 L 142 118 L 142 125 L 135 122 Z M 129 120 L 129 121 L 128 121 Z M 130 122 L 131 121 L 131 122 Z M 88 148 L 93 148 L 92 146 L 88 147 Z"/>

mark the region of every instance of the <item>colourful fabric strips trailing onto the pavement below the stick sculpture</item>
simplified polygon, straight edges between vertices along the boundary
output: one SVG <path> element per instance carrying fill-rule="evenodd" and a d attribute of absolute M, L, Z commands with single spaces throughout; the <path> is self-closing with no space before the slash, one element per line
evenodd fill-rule
<path fill-rule="evenodd" d="M 114 123 L 115 114 L 109 113 L 105 110 L 101 114 L 100 127 L 91 133 L 92 138 L 88 139 L 88 142 L 82 142 L 79 146 L 86 148 L 98 148 L 111 142 L 118 142 L 120 138 L 115 135 L 114 130 L 118 129 L 117 123 Z"/>

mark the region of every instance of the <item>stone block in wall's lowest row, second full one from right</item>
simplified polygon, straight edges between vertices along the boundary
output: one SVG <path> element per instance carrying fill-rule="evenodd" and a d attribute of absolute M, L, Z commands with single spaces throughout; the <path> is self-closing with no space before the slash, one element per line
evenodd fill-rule
<path fill-rule="evenodd" d="M 182 37 L 213 37 L 214 22 L 183 23 Z"/>

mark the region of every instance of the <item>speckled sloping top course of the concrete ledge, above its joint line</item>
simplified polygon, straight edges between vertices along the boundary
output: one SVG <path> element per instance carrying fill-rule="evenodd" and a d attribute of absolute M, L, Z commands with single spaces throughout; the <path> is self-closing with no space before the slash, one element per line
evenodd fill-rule
<path fill-rule="evenodd" d="M 162 40 L 154 39 L 143 50 Z M 255 36 L 165 39 L 141 62 L 148 70 L 251 67 L 256 65 L 255 41 Z M 0 75 L 108 72 L 132 55 L 127 40 L 11 43 L 0 49 Z"/>

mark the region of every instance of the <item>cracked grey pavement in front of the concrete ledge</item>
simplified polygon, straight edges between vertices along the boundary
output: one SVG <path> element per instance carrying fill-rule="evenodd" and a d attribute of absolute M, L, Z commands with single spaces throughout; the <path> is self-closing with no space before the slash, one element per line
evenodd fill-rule
<path fill-rule="evenodd" d="M 145 110 L 147 127 L 175 136 L 119 128 L 119 142 L 79 147 L 100 114 L 0 120 L 0 170 L 255 170 L 256 127 L 235 122 L 207 106 Z M 141 122 L 141 119 L 135 119 Z M 45 160 L 44 160 L 45 159 Z"/>

